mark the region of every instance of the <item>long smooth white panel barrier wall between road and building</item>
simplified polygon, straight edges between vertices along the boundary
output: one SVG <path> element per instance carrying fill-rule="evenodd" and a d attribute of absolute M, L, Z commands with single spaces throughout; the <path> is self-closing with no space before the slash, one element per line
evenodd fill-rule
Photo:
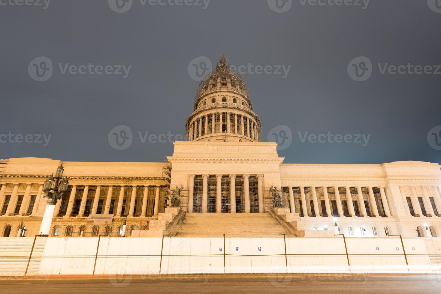
<path fill-rule="evenodd" d="M 102 237 L 95 275 L 161 273 L 347 272 L 338 238 L 108 238 Z M 346 238 L 351 271 L 407 271 L 400 238 Z M 91 275 L 98 238 L 48 238 L 40 275 Z M 424 241 L 404 239 L 411 267 L 430 266 Z M 398 248 L 398 249 L 397 249 Z M 224 251 L 225 250 L 225 251 Z M 225 268 L 224 268 L 225 253 Z M 191 255 L 191 256 L 190 256 Z M 288 262 L 288 268 L 285 267 Z"/>

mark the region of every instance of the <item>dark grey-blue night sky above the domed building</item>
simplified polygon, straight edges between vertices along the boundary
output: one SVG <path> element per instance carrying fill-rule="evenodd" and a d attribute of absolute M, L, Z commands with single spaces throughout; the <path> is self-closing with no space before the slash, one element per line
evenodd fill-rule
<path fill-rule="evenodd" d="M 294 0 L 284 13 L 270 9 L 266 0 L 211 0 L 206 9 L 203 1 L 202 6 L 140 1 L 133 0 L 124 13 L 112 11 L 105 0 L 52 0 L 46 9 L 0 6 L 0 156 L 163 161 L 172 155 L 172 143 L 142 143 L 138 132 L 184 134 L 198 87 L 188 65 L 198 56 L 214 63 L 224 54 L 235 66 L 291 66 L 286 77 L 243 74 L 264 141 L 274 127 L 292 132 L 292 144 L 279 151 L 285 163 L 441 163 L 436 145 L 441 138 L 431 134 L 441 130 L 431 131 L 441 125 L 441 74 L 411 74 L 403 67 L 404 74 L 381 73 L 386 63 L 434 70 L 441 64 L 441 13 L 426 0 L 371 0 L 366 9 Z M 44 82 L 29 73 L 39 56 L 53 64 Z M 358 56 L 372 63 L 364 82 L 348 74 Z M 112 72 L 118 65 L 131 67 L 123 78 L 63 74 L 66 63 L 108 65 Z M 34 64 L 48 66 L 39 59 Z M 124 150 L 108 142 L 118 125 L 133 132 Z M 370 137 L 363 147 L 328 138 L 302 142 L 305 132 Z M 32 143 L 25 142 L 27 134 Z M 50 135 L 49 144 L 43 146 L 44 138 L 39 143 L 35 134 Z"/>

